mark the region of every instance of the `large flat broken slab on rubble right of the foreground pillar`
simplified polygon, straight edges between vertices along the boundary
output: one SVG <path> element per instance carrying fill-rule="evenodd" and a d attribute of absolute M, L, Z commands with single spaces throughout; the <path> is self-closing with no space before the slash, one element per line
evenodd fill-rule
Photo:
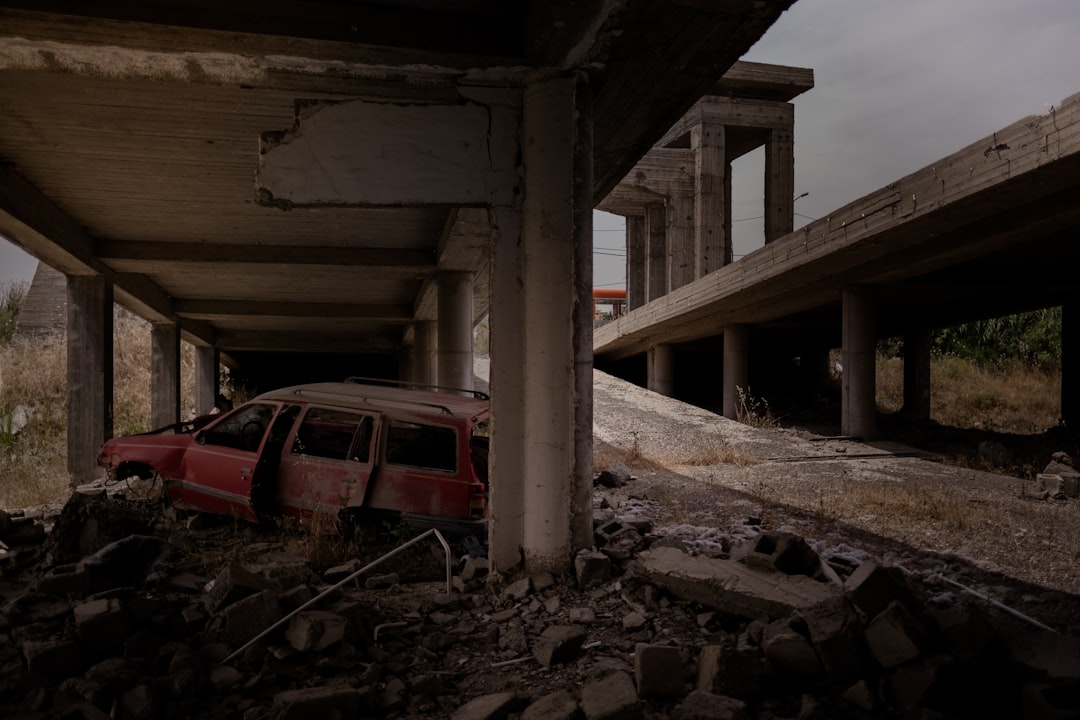
<path fill-rule="evenodd" d="M 831 583 L 751 568 L 733 560 L 691 557 L 652 547 L 637 557 L 638 575 L 687 600 L 742 617 L 777 620 L 840 597 Z"/>

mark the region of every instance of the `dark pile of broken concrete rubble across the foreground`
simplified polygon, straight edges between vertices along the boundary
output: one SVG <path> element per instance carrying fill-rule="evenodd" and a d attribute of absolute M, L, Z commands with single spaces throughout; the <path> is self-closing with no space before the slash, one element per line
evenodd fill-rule
<path fill-rule="evenodd" d="M 202 565 L 230 532 L 75 495 L 32 561 L 3 568 L 0 716 L 811 720 L 1080 707 L 1077 638 L 924 599 L 897 568 L 828 561 L 786 532 L 691 555 L 600 495 L 596 546 L 572 576 L 500 579 L 467 556 L 450 594 L 383 572 L 310 604 L 360 560 L 316 573 L 271 539 Z"/>

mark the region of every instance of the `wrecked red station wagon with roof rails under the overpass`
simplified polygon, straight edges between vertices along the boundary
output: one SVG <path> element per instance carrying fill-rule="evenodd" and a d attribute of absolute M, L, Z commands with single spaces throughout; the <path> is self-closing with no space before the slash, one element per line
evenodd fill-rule
<path fill-rule="evenodd" d="M 252 521 L 383 511 L 484 532 L 487 395 L 362 382 L 284 388 L 208 422 L 113 438 L 98 464 L 114 480 L 160 477 L 180 508 Z"/>

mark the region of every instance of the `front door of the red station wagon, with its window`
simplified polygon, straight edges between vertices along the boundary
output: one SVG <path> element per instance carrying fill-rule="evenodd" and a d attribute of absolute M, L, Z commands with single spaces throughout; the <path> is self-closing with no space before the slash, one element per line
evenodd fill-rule
<path fill-rule="evenodd" d="M 252 479 L 267 430 L 280 405 L 248 403 L 195 434 L 183 478 L 171 498 L 180 507 L 256 519 Z"/>

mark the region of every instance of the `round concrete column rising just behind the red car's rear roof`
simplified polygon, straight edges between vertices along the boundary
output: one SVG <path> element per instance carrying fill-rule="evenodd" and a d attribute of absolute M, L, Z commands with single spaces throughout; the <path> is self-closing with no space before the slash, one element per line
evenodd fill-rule
<path fill-rule="evenodd" d="M 437 282 L 438 384 L 472 390 L 472 273 L 441 272 Z"/>

